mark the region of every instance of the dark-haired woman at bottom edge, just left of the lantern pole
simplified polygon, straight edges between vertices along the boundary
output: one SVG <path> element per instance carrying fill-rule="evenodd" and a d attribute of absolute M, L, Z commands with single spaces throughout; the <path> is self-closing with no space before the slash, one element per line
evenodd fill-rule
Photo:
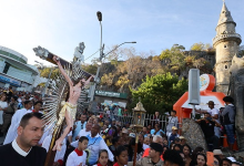
<path fill-rule="evenodd" d="M 124 146 L 118 146 L 115 152 L 116 163 L 113 166 L 126 166 L 128 165 L 128 149 Z"/>

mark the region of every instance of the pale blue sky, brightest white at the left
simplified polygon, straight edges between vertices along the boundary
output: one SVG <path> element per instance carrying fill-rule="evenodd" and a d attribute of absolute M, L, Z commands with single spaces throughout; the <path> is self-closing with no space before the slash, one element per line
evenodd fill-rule
<path fill-rule="evenodd" d="M 244 37 L 244 0 L 225 3 Z M 23 54 L 30 64 L 50 65 L 32 49 L 41 45 L 71 61 L 74 48 L 84 42 L 87 59 L 100 48 L 101 11 L 105 53 L 136 41 L 122 48 L 159 55 L 175 43 L 186 50 L 197 42 L 212 44 L 222 6 L 222 0 L 0 0 L 0 45 Z"/>

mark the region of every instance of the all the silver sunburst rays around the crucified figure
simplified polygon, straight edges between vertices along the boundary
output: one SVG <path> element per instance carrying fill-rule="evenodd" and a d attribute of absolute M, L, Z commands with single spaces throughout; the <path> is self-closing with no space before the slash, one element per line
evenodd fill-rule
<path fill-rule="evenodd" d="M 87 79 L 89 75 L 88 72 L 83 71 L 80 66 L 80 63 L 73 62 L 72 64 L 68 64 L 63 68 L 67 74 L 72 80 L 78 79 Z M 53 124 L 55 124 L 59 120 L 59 113 L 62 107 L 62 101 L 65 101 L 65 96 L 68 93 L 69 84 L 65 81 L 62 74 L 55 75 L 54 83 L 51 85 L 52 94 L 48 97 L 44 97 L 44 112 L 43 120 L 45 122 L 45 128 L 50 129 Z M 81 114 L 83 107 L 83 103 L 87 100 L 87 91 L 85 89 L 82 90 L 81 95 L 78 100 L 78 111 L 77 114 Z M 51 128 L 53 132 L 54 128 Z"/>

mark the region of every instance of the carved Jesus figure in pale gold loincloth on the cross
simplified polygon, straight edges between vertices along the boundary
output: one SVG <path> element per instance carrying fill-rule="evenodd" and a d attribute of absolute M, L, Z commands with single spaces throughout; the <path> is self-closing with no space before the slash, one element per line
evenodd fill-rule
<path fill-rule="evenodd" d="M 69 134 L 69 132 L 72 131 L 73 127 L 73 122 L 75 120 L 75 114 L 77 114 L 77 102 L 81 95 L 81 89 L 85 86 L 93 76 L 90 76 L 87 81 L 84 79 L 81 79 L 78 80 L 77 82 L 72 82 L 70 76 L 63 70 L 59 61 L 59 58 L 54 55 L 52 59 L 58 64 L 61 74 L 64 76 L 70 87 L 68 101 L 65 101 L 62 110 L 60 111 L 59 121 L 57 123 L 57 125 L 59 126 L 62 124 L 63 120 L 65 118 L 67 127 L 64 128 L 60 138 L 55 141 L 55 145 L 52 148 L 52 151 L 55 149 L 61 151 L 63 139 Z"/>

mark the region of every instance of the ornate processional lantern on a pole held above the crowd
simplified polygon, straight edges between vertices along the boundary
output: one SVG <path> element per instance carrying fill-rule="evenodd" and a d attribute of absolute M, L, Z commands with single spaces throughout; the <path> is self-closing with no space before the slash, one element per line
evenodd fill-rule
<path fill-rule="evenodd" d="M 134 129 L 135 129 L 135 147 L 134 147 L 134 159 L 133 159 L 133 166 L 135 166 L 136 163 L 136 154 L 138 154 L 138 143 L 139 143 L 139 135 L 144 126 L 145 122 L 145 108 L 143 107 L 143 104 L 139 102 L 136 106 L 133 108 L 133 124 L 134 124 Z"/>

